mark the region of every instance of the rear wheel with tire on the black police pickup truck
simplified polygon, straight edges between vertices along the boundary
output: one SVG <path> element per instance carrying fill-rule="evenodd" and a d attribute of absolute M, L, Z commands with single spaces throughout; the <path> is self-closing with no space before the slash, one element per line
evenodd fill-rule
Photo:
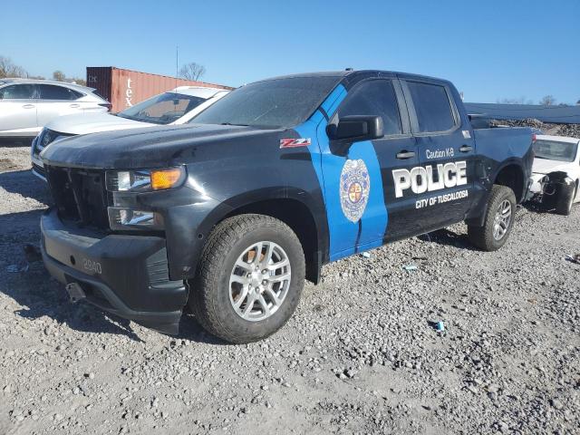
<path fill-rule="evenodd" d="M 501 214 L 499 213 L 500 207 L 503 210 L 507 210 L 507 203 L 509 204 L 509 219 L 506 222 L 503 220 L 505 214 L 501 215 L 502 219 L 500 220 L 503 222 L 503 225 L 501 225 L 496 219 L 498 214 Z M 469 242 L 484 251 L 497 251 L 506 244 L 511 228 L 514 226 L 515 215 L 516 195 L 514 191 L 506 186 L 495 184 L 489 195 L 483 227 L 468 226 Z M 500 228 L 496 227 L 497 224 Z M 496 232 L 497 230 L 498 232 Z M 498 233 L 501 233 L 500 237 L 498 237 Z"/>

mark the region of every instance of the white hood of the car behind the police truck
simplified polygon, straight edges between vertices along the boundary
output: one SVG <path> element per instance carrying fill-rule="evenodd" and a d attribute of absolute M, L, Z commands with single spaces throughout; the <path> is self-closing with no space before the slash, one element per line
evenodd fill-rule
<path fill-rule="evenodd" d="M 45 127 L 60 133 L 89 134 L 102 131 L 140 129 L 157 125 L 149 122 L 128 120 L 127 118 L 121 118 L 121 116 L 111 115 L 111 113 L 79 113 L 60 116 L 50 121 Z"/>

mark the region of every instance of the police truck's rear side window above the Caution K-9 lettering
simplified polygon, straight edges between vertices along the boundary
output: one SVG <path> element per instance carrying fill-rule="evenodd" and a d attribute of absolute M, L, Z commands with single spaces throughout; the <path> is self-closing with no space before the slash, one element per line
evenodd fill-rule
<path fill-rule="evenodd" d="M 455 126 L 449 96 L 438 84 L 407 82 L 420 132 L 448 131 Z"/>

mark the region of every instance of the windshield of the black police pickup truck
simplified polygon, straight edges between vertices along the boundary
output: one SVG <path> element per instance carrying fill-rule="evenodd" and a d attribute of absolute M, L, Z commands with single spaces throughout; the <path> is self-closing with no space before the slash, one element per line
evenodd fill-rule
<path fill-rule="evenodd" d="M 189 122 L 266 129 L 298 125 L 316 110 L 340 77 L 292 77 L 247 84 Z"/>

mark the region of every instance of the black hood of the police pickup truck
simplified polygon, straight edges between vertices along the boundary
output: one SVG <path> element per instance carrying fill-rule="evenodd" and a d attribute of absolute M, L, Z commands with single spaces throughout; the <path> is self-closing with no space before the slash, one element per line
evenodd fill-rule
<path fill-rule="evenodd" d="M 227 157 L 225 150 L 235 142 L 259 140 L 266 146 L 271 140 L 277 147 L 281 131 L 206 124 L 109 131 L 58 140 L 40 157 L 44 164 L 70 168 L 163 168 Z"/>

